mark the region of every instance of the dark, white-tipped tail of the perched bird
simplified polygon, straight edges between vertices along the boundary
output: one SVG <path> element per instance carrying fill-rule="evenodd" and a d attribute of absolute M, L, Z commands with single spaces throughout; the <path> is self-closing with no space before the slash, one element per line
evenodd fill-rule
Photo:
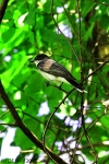
<path fill-rule="evenodd" d="M 68 82 L 69 82 L 70 84 L 72 84 L 77 91 L 87 93 L 87 91 L 85 91 L 85 90 L 82 87 L 82 85 L 78 84 L 77 82 L 75 82 L 74 80 L 69 79 Z"/>

